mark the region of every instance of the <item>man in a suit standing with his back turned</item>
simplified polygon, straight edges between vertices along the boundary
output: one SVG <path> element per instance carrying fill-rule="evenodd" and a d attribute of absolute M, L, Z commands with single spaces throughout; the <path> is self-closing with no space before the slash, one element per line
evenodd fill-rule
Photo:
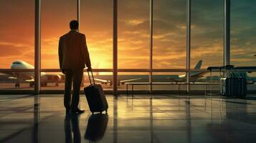
<path fill-rule="evenodd" d="M 90 66 L 90 56 L 87 49 L 85 34 L 80 34 L 78 21 L 70 21 L 70 31 L 60 37 L 59 41 L 59 61 L 60 69 L 65 74 L 64 106 L 66 113 L 83 113 L 84 110 L 78 108 L 80 97 L 80 84 L 82 82 L 83 69 L 85 64 L 88 70 Z M 73 84 L 73 94 L 71 100 L 71 87 Z"/>

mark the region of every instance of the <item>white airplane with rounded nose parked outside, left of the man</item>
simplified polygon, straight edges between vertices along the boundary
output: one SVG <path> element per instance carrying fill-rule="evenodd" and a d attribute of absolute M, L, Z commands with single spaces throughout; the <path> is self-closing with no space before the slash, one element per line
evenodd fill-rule
<path fill-rule="evenodd" d="M 22 60 L 16 60 L 11 63 L 11 69 L 34 69 L 34 66 Z M 29 82 L 29 87 L 34 86 L 34 72 L 12 72 L 1 73 L 1 75 L 8 75 L 8 79 L 15 79 L 15 87 L 20 87 L 20 82 Z M 60 82 L 64 82 L 65 76 L 63 74 L 46 74 L 41 72 L 41 86 L 46 87 L 47 83 L 55 83 L 59 86 Z"/>

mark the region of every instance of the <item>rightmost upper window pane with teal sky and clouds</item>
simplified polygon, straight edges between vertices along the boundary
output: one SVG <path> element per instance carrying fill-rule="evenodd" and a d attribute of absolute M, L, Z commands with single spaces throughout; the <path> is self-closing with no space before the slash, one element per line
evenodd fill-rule
<path fill-rule="evenodd" d="M 230 62 L 234 66 L 255 66 L 256 1 L 231 1 Z"/>

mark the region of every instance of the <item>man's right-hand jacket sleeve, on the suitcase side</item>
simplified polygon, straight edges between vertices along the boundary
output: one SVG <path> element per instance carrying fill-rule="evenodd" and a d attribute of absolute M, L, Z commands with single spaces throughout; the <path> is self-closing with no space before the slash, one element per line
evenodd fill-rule
<path fill-rule="evenodd" d="M 88 69 L 90 68 L 90 56 L 89 56 L 89 51 L 87 49 L 87 44 L 86 44 L 86 38 L 85 35 L 82 35 L 82 46 L 81 46 L 81 54 L 82 54 L 82 59 L 85 61 L 86 66 Z"/>

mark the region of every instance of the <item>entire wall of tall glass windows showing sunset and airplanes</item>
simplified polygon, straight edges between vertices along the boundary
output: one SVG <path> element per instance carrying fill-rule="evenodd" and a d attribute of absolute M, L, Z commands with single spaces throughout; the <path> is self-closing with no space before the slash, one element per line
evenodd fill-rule
<path fill-rule="evenodd" d="M 186 90 L 186 0 L 153 1 L 153 82 L 180 83 L 154 85 L 153 90 Z M 34 1 L 0 2 L 0 89 L 22 92 L 34 89 Z M 231 1 L 231 64 L 255 66 L 255 1 Z M 77 1 L 44 0 L 41 17 L 41 85 L 42 90 L 62 90 L 65 75 L 60 73 L 58 42 L 70 31 L 69 23 L 77 19 Z M 150 46 L 150 1 L 118 0 L 118 69 L 148 69 Z M 113 0 L 81 0 L 80 32 L 86 35 L 95 74 L 95 82 L 113 89 Z M 224 1 L 191 1 L 191 69 L 222 66 L 224 55 Z M 2 69 L 29 69 L 9 71 Z M 47 70 L 45 70 L 47 69 Z M 54 69 L 54 70 L 48 70 Z M 98 70 L 97 70 L 98 69 Z M 99 69 L 104 69 L 103 72 Z M 82 84 L 89 84 L 85 73 Z M 118 90 L 128 82 L 149 82 L 148 71 L 118 72 Z M 247 73 L 249 87 L 255 85 L 255 73 Z M 197 82 L 197 83 L 196 83 Z M 191 90 L 217 91 L 219 73 L 191 71 Z M 163 84 L 163 83 L 161 83 Z M 182 86 L 181 86 L 182 84 Z M 16 88 L 14 88 L 16 87 Z M 20 88 L 17 88 L 20 87 Z M 148 85 L 135 87 L 136 92 Z M 215 88 L 215 89 L 214 89 Z M 82 89 L 82 88 L 81 88 Z M 212 90 L 211 89 L 211 90 Z M 250 88 L 249 88 L 250 89 Z"/>

